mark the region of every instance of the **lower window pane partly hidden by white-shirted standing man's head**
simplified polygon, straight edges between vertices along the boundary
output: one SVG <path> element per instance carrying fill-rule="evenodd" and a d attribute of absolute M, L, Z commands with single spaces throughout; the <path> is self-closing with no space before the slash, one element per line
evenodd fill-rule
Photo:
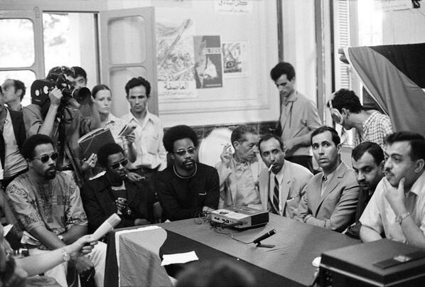
<path fill-rule="evenodd" d="M 109 87 L 112 91 L 112 114 L 121 117 L 129 112 L 125 85 L 132 77 L 145 77 L 147 72 L 144 67 L 116 67 L 109 72 Z"/>

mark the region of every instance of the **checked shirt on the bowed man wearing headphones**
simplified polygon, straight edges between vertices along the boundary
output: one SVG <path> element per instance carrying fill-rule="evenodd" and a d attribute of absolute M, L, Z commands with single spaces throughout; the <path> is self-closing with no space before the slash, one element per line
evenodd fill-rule
<path fill-rule="evenodd" d="M 372 114 L 363 121 L 363 134 L 357 130 L 354 135 L 354 146 L 365 141 L 379 144 L 384 149 L 385 136 L 392 134 L 392 124 L 386 114 L 381 114 L 378 111 Z"/>

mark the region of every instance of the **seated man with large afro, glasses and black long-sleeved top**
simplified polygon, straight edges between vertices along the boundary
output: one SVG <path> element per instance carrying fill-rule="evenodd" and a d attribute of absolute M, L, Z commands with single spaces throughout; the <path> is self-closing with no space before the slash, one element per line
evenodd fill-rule
<path fill-rule="evenodd" d="M 196 162 L 195 131 L 189 126 L 173 126 L 164 134 L 163 145 L 174 164 L 159 172 L 156 182 L 162 219 L 185 220 L 215 210 L 220 197 L 218 173 Z"/>

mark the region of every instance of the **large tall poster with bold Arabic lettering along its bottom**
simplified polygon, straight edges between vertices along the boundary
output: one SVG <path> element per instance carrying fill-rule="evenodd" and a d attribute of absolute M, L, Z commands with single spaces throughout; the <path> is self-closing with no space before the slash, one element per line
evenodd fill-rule
<path fill-rule="evenodd" d="M 193 55 L 193 20 L 164 15 L 156 21 L 158 97 L 196 97 Z M 166 20 L 165 20 L 166 19 Z"/>

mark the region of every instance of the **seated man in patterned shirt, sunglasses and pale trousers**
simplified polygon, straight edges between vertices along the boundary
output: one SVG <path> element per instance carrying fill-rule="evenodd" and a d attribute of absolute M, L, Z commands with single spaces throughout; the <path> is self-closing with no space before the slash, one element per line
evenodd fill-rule
<path fill-rule="evenodd" d="M 33 249 L 31 254 L 65 247 L 87 234 L 80 190 L 68 175 L 56 171 L 58 153 L 52 139 L 43 134 L 30 136 L 23 143 L 22 153 L 29 170 L 18 175 L 6 193 L 18 222 L 38 241 L 37 246 L 33 246 L 38 249 Z M 106 244 L 99 242 L 90 256 L 78 256 L 75 266 L 80 274 L 94 266 L 95 282 L 103 286 L 105 259 Z M 67 286 L 67 268 L 65 261 L 45 274 Z"/>

